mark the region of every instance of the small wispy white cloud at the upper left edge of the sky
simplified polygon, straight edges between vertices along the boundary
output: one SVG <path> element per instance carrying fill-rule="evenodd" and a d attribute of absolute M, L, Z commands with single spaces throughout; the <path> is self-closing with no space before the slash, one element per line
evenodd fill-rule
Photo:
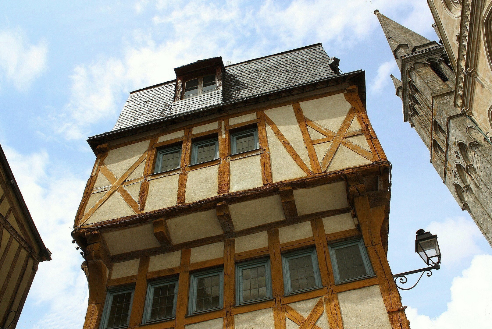
<path fill-rule="evenodd" d="M 18 28 L 1 30 L 0 45 L 0 82 L 11 83 L 19 91 L 28 90 L 46 68 L 46 42 L 33 45 Z"/>

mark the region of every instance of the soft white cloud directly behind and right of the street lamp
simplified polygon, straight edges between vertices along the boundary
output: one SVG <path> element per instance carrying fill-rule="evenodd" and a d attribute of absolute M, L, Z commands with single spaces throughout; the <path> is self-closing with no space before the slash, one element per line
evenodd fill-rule
<path fill-rule="evenodd" d="M 443 222 L 431 222 L 426 231 L 436 234 L 441 249 L 443 267 L 460 264 L 468 257 L 481 253 L 476 241 L 483 235 L 472 220 L 465 217 L 446 218 Z M 459 232 L 459 241 L 457 240 Z"/>

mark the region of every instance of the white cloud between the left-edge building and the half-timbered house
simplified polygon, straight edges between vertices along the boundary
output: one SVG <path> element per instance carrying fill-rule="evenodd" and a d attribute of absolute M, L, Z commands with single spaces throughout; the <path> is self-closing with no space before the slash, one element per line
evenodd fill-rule
<path fill-rule="evenodd" d="M 46 151 L 23 155 L 2 147 L 41 238 L 53 252 L 51 261 L 39 264 L 18 328 L 81 328 L 87 280 L 70 233 L 85 181 L 51 162 Z M 43 307 L 39 322 L 29 319 L 31 304 Z"/>

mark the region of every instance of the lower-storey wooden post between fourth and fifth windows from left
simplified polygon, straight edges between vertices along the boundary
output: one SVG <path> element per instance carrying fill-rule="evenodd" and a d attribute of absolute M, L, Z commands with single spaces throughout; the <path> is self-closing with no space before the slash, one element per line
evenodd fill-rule
<path fill-rule="evenodd" d="M 280 298 L 283 296 L 284 291 L 278 229 L 268 231 L 268 251 L 270 253 L 270 267 L 272 269 L 272 293 L 276 302 L 276 306 L 274 307 L 275 329 L 285 329 L 285 306 L 280 303 Z"/>

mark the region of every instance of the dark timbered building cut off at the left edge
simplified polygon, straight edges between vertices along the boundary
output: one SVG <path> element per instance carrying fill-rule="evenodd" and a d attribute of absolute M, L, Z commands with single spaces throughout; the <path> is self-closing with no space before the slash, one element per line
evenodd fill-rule
<path fill-rule="evenodd" d="M 0 328 L 14 329 L 39 262 L 51 252 L 32 221 L 0 147 Z"/>

